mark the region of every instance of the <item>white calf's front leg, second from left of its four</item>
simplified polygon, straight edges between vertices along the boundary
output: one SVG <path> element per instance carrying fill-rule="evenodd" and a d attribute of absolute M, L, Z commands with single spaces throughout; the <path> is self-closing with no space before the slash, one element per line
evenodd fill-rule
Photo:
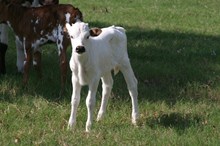
<path fill-rule="evenodd" d="M 96 101 L 96 92 L 99 84 L 99 79 L 93 78 L 89 84 L 89 92 L 86 97 L 86 106 L 87 106 L 87 121 L 86 121 L 86 132 L 89 132 L 93 120 L 93 110 Z"/>

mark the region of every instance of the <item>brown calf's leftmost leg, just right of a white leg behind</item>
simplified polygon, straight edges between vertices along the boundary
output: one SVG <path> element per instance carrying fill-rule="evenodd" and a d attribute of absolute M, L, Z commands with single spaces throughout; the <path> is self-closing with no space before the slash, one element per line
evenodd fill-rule
<path fill-rule="evenodd" d="M 25 51 L 25 61 L 24 61 L 24 78 L 23 82 L 26 85 L 28 82 L 29 78 L 29 71 L 31 67 L 31 62 L 32 62 L 32 48 L 31 45 L 25 43 L 24 41 L 24 51 Z"/>

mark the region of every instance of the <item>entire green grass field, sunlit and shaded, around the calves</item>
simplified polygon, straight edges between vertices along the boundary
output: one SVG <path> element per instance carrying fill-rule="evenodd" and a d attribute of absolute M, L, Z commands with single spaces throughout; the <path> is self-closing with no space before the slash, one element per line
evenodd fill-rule
<path fill-rule="evenodd" d="M 43 78 L 32 69 L 23 88 L 10 34 L 7 74 L 0 76 L 0 145 L 220 145 L 220 17 L 218 0 L 61 0 L 84 14 L 91 27 L 121 25 L 138 79 L 140 120 L 131 125 L 131 101 L 121 74 L 103 121 L 85 133 L 87 88 L 74 131 L 70 71 L 59 98 L 54 45 L 43 47 Z M 70 57 L 71 48 L 68 50 Z M 101 86 L 100 86 L 101 87 Z M 96 111 L 101 100 L 97 94 Z"/>

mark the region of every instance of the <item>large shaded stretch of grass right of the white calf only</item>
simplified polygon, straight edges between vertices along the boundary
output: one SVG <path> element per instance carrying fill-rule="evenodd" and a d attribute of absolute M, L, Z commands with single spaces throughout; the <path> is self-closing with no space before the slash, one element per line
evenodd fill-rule
<path fill-rule="evenodd" d="M 132 28 L 128 39 L 141 99 L 169 105 L 220 99 L 212 91 L 220 85 L 220 37 L 137 30 Z"/>

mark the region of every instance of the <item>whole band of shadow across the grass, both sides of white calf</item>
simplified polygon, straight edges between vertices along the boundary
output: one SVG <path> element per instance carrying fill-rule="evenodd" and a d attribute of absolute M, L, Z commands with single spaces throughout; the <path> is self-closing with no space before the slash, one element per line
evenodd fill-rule
<path fill-rule="evenodd" d="M 102 22 L 89 24 L 91 27 L 112 25 Z M 121 26 L 127 30 L 128 53 L 139 82 L 140 100 L 165 101 L 168 105 L 174 105 L 178 100 L 220 99 L 220 94 L 212 91 L 220 85 L 219 36 Z M 70 52 L 71 48 L 68 50 L 69 58 Z M 14 57 L 11 57 L 13 62 L 10 62 L 10 65 L 14 70 L 16 51 L 11 50 L 11 53 Z M 10 52 L 7 53 L 8 56 L 9 54 Z M 56 46 L 44 49 L 43 54 L 43 81 L 38 82 L 34 77 L 30 90 L 33 94 L 39 94 L 47 99 L 57 99 L 60 71 Z M 33 75 L 30 75 L 30 78 L 33 78 Z M 128 97 L 123 77 L 117 75 L 114 78 L 114 94 Z M 67 85 L 68 92 L 65 96 L 69 99 L 70 71 Z"/>

